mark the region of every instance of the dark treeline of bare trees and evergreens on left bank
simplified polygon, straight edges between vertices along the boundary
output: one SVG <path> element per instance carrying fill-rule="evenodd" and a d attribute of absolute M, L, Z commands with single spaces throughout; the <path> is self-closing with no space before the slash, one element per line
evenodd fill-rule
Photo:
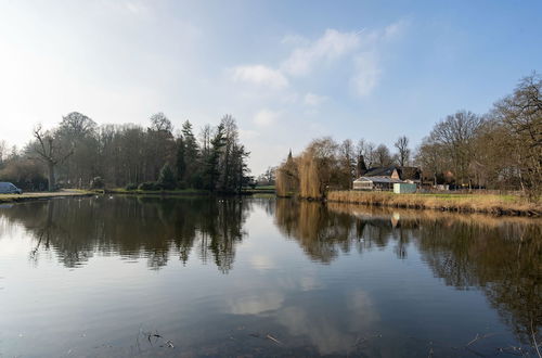
<path fill-rule="evenodd" d="M 2 152 L 5 145 L 0 145 L 0 180 L 27 190 L 108 186 L 231 193 L 248 180 L 249 153 L 231 115 L 216 127 L 205 126 L 196 138 L 189 120 L 173 133 L 171 120 L 163 113 L 153 115 L 144 128 L 99 126 L 73 112 L 53 129 L 37 126 L 23 150 Z"/>

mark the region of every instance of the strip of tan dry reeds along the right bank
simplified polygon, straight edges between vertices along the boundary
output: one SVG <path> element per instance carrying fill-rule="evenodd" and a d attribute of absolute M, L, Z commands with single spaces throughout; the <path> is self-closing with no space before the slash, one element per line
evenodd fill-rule
<path fill-rule="evenodd" d="M 541 216 L 542 203 L 515 195 L 393 194 L 390 192 L 332 191 L 328 202 L 494 215 Z"/>

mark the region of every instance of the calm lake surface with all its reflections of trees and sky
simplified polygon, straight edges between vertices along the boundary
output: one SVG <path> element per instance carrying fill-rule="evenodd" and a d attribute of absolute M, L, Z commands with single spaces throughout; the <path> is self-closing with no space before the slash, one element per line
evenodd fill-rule
<path fill-rule="evenodd" d="M 535 219 L 264 197 L 0 206 L 0 357 L 534 357 L 541 287 Z"/>

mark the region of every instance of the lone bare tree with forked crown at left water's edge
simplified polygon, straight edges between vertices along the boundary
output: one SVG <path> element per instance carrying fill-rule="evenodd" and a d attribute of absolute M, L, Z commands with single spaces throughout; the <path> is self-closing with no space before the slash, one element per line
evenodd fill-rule
<path fill-rule="evenodd" d="M 51 131 L 43 131 L 41 125 L 34 129 L 34 138 L 36 142 L 31 145 L 31 153 L 35 158 L 43 162 L 47 166 L 49 178 L 49 191 L 54 191 L 54 168 L 57 164 L 63 163 L 72 154 L 74 149 L 64 149 Z"/>

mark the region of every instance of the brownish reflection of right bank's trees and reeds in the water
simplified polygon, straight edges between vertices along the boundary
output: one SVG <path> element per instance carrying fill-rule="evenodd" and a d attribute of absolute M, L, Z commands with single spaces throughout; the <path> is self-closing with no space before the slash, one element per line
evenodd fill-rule
<path fill-rule="evenodd" d="M 525 344 L 542 329 L 542 222 L 434 212 L 278 200 L 275 222 L 313 259 L 393 244 L 398 258 L 416 245 L 447 285 L 480 289 Z M 532 325 L 532 330 L 531 330 Z"/>

